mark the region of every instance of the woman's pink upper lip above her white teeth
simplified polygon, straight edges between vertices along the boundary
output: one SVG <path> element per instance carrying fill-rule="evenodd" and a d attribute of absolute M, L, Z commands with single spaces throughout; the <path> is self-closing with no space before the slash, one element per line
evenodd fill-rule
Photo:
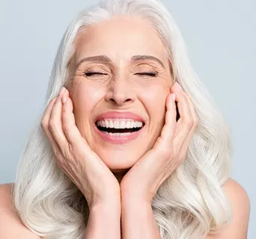
<path fill-rule="evenodd" d="M 104 119 L 132 119 L 132 120 L 137 120 L 144 122 L 144 119 L 135 113 L 129 112 L 129 111 L 106 111 L 103 114 L 99 114 L 96 117 L 95 122 L 97 120 L 104 120 Z"/>

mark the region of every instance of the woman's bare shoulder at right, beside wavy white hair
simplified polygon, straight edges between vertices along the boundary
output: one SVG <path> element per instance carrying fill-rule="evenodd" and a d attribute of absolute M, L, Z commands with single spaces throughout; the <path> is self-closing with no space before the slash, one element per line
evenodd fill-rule
<path fill-rule="evenodd" d="M 222 185 L 223 192 L 228 198 L 232 208 L 232 220 L 222 232 L 217 235 L 208 236 L 207 239 L 245 239 L 247 238 L 250 199 L 246 190 L 234 179 L 228 179 Z"/>

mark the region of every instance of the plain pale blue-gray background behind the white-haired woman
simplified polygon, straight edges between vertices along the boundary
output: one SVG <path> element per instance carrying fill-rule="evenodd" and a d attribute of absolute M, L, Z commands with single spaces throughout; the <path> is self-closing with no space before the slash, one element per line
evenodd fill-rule
<path fill-rule="evenodd" d="M 97 1 L 0 0 L 0 184 L 13 182 L 25 139 L 43 106 L 53 59 L 73 16 Z M 256 238 L 254 0 L 163 1 L 185 38 L 192 66 L 231 125 L 231 177 L 251 200 Z"/>

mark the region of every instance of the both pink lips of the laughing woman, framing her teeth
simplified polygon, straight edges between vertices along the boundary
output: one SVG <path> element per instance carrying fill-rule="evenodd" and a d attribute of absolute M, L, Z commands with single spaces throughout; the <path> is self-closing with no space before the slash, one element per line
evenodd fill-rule
<path fill-rule="evenodd" d="M 135 138 L 137 138 L 141 134 L 141 132 L 144 130 L 144 125 L 143 125 L 140 130 L 135 131 L 129 135 L 113 136 L 110 134 L 105 134 L 102 131 L 100 131 L 100 129 L 97 128 L 97 125 L 96 125 L 97 120 L 103 120 L 103 119 L 132 119 L 132 120 L 138 120 L 142 122 L 144 122 L 144 120 L 138 114 L 135 114 L 132 112 L 108 111 L 103 114 L 100 114 L 94 122 L 94 128 L 97 134 L 100 134 L 100 137 L 102 137 L 103 140 L 106 140 L 109 143 L 115 143 L 115 144 L 128 143 L 132 140 L 135 140 Z"/>

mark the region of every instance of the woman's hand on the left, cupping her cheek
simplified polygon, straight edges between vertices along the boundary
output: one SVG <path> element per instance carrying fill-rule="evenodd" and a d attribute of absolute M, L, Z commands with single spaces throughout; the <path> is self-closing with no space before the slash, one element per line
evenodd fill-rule
<path fill-rule="evenodd" d="M 63 96 L 67 98 L 64 104 Z M 73 102 L 66 88 L 49 103 L 41 125 L 52 144 L 58 167 L 79 187 L 89 208 L 121 199 L 118 180 L 76 126 Z"/>

